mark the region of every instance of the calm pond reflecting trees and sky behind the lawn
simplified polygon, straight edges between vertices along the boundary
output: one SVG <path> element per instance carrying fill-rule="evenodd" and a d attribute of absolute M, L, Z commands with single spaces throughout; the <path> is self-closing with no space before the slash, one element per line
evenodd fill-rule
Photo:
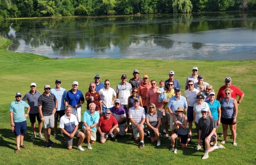
<path fill-rule="evenodd" d="M 0 20 L 9 51 L 50 58 L 256 59 L 256 12 Z"/>

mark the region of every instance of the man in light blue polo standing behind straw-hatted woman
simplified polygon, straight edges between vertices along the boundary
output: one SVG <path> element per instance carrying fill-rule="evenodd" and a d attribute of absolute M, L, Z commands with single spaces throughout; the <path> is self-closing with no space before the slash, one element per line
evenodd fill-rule
<path fill-rule="evenodd" d="M 174 89 L 174 93 L 175 96 L 172 96 L 169 99 L 168 102 L 168 111 L 171 114 L 170 116 L 170 129 L 172 130 L 172 134 L 175 133 L 175 125 L 174 125 L 174 121 L 175 121 L 175 117 L 176 117 L 176 113 L 175 110 L 178 109 L 178 107 L 182 107 L 184 109 L 185 112 L 187 112 L 188 110 L 188 104 L 187 104 L 187 100 L 185 97 L 181 96 L 181 90 L 180 88 L 176 87 Z"/>

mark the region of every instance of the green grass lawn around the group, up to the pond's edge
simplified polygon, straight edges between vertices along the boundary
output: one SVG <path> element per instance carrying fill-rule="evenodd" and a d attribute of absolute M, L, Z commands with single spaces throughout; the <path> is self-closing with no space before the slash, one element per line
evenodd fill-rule
<path fill-rule="evenodd" d="M 255 90 L 253 90 L 256 86 L 256 60 L 50 59 L 33 54 L 8 52 L 6 48 L 10 44 L 10 40 L 0 38 L 0 161 L 2 164 L 256 164 Z M 76 139 L 73 143 L 74 149 L 67 150 L 63 137 L 58 135 L 56 138 L 51 138 L 55 144 L 49 149 L 44 148 L 44 141 L 38 137 L 30 140 L 32 131 L 27 119 L 28 132 L 24 144 L 28 148 L 14 154 L 16 141 L 15 135 L 11 133 L 9 106 L 15 100 L 15 93 L 19 91 L 24 96 L 30 90 L 29 86 L 32 82 L 37 84 L 38 91 L 43 92 L 44 85 L 49 84 L 54 87 L 56 79 L 61 79 L 62 87 L 66 90 L 71 89 L 75 80 L 79 82 L 79 90 L 85 95 L 89 83 L 94 81 L 95 74 L 101 75 L 101 81 L 109 79 L 110 86 L 115 89 L 121 81 L 121 74 L 127 74 L 129 81 L 134 69 L 140 70 L 141 77 L 147 74 L 150 80 L 155 79 L 157 82 L 168 79 L 169 71 L 174 70 L 175 78 L 180 81 L 181 92 L 184 95 L 184 83 L 187 76 L 192 74 L 193 66 L 199 68 L 198 73 L 204 75 L 204 81 L 214 86 L 215 92 L 224 85 L 224 78 L 231 76 L 232 84 L 245 93 L 239 105 L 237 147 L 234 147 L 232 140 L 227 138 L 224 144 L 225 150 L 215 150 L 209 154 L 207 160 L 202 160 L 203 150 L 194 150 L 197 140 L 193 129 L 193 144 L 186 149 L 181 149 L 178 145 L 177 154 L 168 150 L 170 140 L 167 138 L 161 140 L 161 146 L 156 146 L 156 143 L 150 142 L 150 137 L 146 137 L 145 147 L 139 149 L 139 142 L 128 140 L 130 133 L 123 138 L 117 138 L 116 142 L 107 141 L 105 144 L 100 144 L 97 139 L 97 142 L 92 144 L 92 150 L 88 150 L 86 143 L 83 143 L 84 152 L 75 149 L 78 142 Z M 83 106 L 82 112 L 85 109 L 86 106 Z M 81 124 L 79 128 L 81 129 Z M 217 129 L 218 134 L 221 132 L 222 126 Z M 230 130 L 228 135 L 231 135 Z M 223 137 L 219 138 L 218 142 L 222 140 Z"/>

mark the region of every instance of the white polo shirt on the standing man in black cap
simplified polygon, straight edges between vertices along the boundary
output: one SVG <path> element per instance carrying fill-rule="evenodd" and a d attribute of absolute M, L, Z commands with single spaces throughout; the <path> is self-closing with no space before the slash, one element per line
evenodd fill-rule
<path fill-rule="evenodd" d="M 128 97 L 131 95 L 132 85 L 130 83 L 122 82 L 116 85 L 115 92 L 118 93 L 118 98 L 121 101 L 121 104 L 127 105 L 128 104 Z"/>

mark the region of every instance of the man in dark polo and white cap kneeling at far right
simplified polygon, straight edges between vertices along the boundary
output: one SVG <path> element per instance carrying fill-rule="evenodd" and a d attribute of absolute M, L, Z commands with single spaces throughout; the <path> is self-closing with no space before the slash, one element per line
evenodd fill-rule
<path fill-rule="evenodd" d="M 198 120 L 198 130 L 199 130 L 199 139 L 198 145 L 201 146 L 201 140 L 203 141 L 204 147 L 204 156 L 202 159 L 209 158 L 208 153 L 212 152 L 215 149 L 225 149 L 220 143 L 217 146 L 210 147 L 210 142 L 214 142 L 216 140 L 216 136 L 214 132 L 216 130 L 216 124 L 214 122 L 214 118 L 210 118 L 208 115 L 208 110 L 202 108 L 201 110 L 202 117 Z"/>

